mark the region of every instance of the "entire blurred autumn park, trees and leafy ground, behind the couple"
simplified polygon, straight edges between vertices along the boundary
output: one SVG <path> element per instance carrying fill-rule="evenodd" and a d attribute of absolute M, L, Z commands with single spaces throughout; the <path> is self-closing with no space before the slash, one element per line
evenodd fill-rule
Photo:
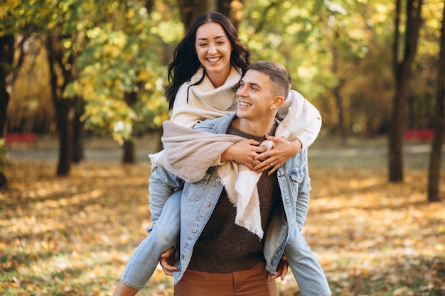
<path fill-rule="evenodd" d="M 321 112 L 305 231 L 336 295 L 445 295 L 443 0 L 1 1 L 0 294 L 112 295 L 205 11 Z"/>

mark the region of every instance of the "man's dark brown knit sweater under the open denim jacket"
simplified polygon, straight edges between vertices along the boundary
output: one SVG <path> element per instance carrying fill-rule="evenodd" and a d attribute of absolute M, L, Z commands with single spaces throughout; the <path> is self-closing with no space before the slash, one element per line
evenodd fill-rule
<path fill-rule="evenodd" d="M 274 134 L 275 125 L 269 134 Z M 256 141 L 264 141 L 264 137 L 242 133 L 230 126 L 228 134 L 234 134 Z M 267 228 L 269 214 L 281 202 L 277 172 L 268 176 L 264 172 L 257 183 L 262 228 Z M 215 210 L 203 229 L 193 248 L 193 255 L 188 268 L 210 273 L 230 273 L 251 268 L 264 262 L 263 243 L 258 236 L 235 224 L 236 207 L 227 198 L 223 190 L 215 206 Z"/>

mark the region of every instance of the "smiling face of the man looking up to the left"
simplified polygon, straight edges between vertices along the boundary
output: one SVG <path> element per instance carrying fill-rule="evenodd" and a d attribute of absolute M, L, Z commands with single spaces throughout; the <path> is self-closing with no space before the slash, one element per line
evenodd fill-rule
<path fill-rule="evenodd" d="M 248 70 L 237 90 L 237 116 L 242 119 L 267 119 L 274 102 L 269 76 L 256 70 Z M 267 117 L 266 117 L 267 116 Z"/>

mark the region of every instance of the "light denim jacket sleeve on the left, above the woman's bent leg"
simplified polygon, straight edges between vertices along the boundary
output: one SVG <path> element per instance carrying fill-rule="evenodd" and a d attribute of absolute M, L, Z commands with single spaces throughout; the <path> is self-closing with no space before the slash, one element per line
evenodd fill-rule
<path fill-rule="evenodd" d="M 151 223 L 154 225 L 161 215 L 163 205 L 173 192 L 181 188 L 183 180 L 167 170 L 158 167 L 151 172 L 149 180 L 149 199 Z"/>

